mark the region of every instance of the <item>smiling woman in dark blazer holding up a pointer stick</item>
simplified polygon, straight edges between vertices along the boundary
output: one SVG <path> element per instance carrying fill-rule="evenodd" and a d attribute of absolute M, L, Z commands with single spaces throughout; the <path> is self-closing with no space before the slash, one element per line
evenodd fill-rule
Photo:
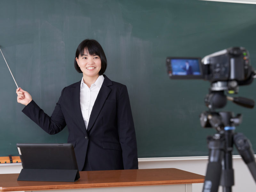
<path fill-rule="evenodd" d="M 18 88 L 17 101 L 26 105 L 22 112 L 49 134 L 67 125 L 79 171 L 138 169 L 127 88 L 103 75 L 107 59 L 96 40 L 78 45 L 75 68 L 83 78 L 62 90 L 51 117 Z"/>

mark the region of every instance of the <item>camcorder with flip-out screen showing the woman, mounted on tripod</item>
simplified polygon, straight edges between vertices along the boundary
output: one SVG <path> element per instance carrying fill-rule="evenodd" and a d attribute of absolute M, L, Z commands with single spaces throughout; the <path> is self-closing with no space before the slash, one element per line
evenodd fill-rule
<path fill-rule="evenodd" d="M 204 79 L 215 82 L 250 84 L 253 69 L 249 52 L 244 47 L 230 47 L 201 58 L 167 57 L 171 79 Z M 228 89 L 228 88 L 227 88 Z"/>

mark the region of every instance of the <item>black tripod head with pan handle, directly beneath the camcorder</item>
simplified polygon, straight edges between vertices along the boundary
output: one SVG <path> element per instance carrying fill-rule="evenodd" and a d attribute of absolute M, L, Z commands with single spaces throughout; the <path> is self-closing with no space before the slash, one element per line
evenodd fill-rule
<path fill-rule="evenodd" d="M 250 84 L 253 80 L 254 73 L 250 77 Z M 242 115 L 237 114 L 234 116 L 232 112 L 215 112 L 215 109 L 223 108 L 226 106 L 227 101 L 246 107 L 253 108 L 254 100 L 244 97 L 230 97 L 225 95 L 228 93 L 238 93 L 238 84 L 235 80 L 232 81 L 218 81 L 211 84 L 209 94 L 206 95 L 204 102 L 209 111 L 203 112 L 200 115 L 200 123 L 204 128 L 215 128 L 217 131 L 224 130 L 225 127 L 234 127 L 242 122 Z"/>

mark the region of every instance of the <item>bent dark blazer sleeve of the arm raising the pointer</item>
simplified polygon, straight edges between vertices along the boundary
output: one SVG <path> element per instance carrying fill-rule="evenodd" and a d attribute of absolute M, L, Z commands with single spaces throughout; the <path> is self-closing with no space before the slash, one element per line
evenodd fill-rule
<path fill-rule="evenodd" d="M 44 110 L 41 109 L 34 100 L 25 106 L 22 112 L 39 125 L 45 132 L 51 135 L 60 132 L 66 126 L 60 105 L 64 89 L 61 92 L 60 99 L 57 102 L 51 117 L 44 113 Z"/>

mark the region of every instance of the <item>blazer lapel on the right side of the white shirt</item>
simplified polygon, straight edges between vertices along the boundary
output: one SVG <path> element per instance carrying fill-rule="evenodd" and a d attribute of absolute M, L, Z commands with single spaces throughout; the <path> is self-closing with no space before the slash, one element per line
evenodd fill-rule
<path fill-rule="evenodd" d="M 87 132 L 91 130 L 93 124 L 95 123 L 95 121 L 96 121 L 96 119 L 97 119 L 97 117 L 100 113 L 100 110 L 101 110 L 102 106 L 105 103 L 105 100 L 108 97 L 108 94 L 111 92 L 111 89 L 108 86 L 112 85 L 112 82 L 111 82 L 110 79 L 108 79 L 107 76 L 105 76 L 105 75 L 103 75 L 103 76 L 104 76 L 104 81 L 103 81 L 103 84 L 101 85 L 98 96 L 97 96 L 97 98 L 95 100 L 95 103 L 92 107 L 92 112 L 91 112 L 91 115 L 90 115 L 89 124 L 88 124 L 88 127 L 87 127 Z"/>

